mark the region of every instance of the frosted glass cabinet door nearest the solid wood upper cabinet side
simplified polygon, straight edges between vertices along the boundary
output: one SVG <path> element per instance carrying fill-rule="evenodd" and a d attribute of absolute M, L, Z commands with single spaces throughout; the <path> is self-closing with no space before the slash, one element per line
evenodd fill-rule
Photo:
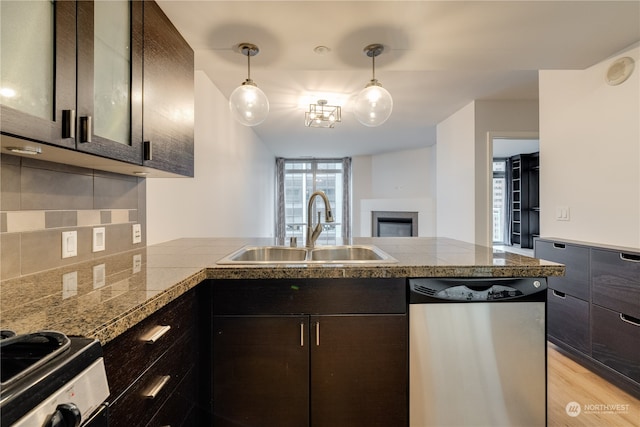
<path fill-rule="evenodd" d="M 77 149 L 142 162 L 142 2 L 78 1 Z"/>

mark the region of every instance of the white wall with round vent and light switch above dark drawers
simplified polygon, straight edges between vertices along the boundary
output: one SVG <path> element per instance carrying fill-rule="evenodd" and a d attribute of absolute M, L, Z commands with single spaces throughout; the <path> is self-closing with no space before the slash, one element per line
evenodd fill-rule
<path fill-rule="evenodd" d="M 609 86 L 618 57 L 636 61 Z M 640 48 L 582 71 L 540 71 L 541 234 L 640 248 Z M 569 208 L 569 221 L 555 219 Z"/>

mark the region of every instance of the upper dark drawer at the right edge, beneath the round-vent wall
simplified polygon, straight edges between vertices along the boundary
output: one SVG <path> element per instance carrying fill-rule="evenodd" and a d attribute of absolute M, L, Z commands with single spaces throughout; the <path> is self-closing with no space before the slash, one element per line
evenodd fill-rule
<path fill-rule="evenodd" d="M 591 250 L 592 302 L 640 317 L 640 253 Z"/>

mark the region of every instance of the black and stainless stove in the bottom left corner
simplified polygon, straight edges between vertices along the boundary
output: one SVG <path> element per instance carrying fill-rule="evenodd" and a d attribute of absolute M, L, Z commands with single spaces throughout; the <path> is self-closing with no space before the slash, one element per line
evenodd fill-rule
<path fill-rule="evenodd" d="M 0 356 L 2 426 L 107 425 L 109 386 L 99 341 L 1 331 Z"/>

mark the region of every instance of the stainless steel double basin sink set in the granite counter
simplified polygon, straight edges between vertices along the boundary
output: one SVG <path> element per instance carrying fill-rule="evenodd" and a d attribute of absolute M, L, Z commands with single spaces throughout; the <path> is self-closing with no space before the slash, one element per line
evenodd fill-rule
<path fill-rule="evenodd" d="M 375 264 L 398 262 L 376 246 L 245 246 L 227 255 L 218 264 Z"/>

